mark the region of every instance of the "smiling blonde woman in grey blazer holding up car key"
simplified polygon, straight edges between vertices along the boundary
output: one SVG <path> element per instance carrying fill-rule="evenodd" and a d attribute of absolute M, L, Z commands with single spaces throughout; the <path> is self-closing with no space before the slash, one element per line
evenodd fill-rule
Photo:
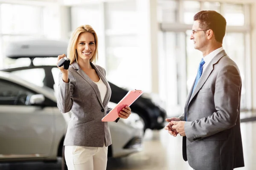
<path fill-rule="evenodd" d="M 59 55 L 58 61 L 63 57 L 66 56 Z M 67 167 L 106 170 L 108 146 L 112 142 L 108 122 L 101 119 L 111 110 L 111 88 L 105 69 L 93 64 L 98 58 L 98 38 L 91 26 L 76 28 L 70 37 L 67 57 L 69 69 L 59 67 L 57 103 L 61 113 L 72 113 L 64 140 Z M 127 119 L 130 114 L 131 108 L 123 108 L 119 118 Z"/>

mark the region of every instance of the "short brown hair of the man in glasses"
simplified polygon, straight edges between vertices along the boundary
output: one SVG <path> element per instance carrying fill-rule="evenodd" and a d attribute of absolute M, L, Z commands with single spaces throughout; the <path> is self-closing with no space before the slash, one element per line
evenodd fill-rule
<path fill-rule="evenodd" d="M 194 21 L 198 20 L 201 29 L 211 29 L 218 42 L 223 42 L 226 33 L 226 19 L 216 11 L 200 11 L 194 16 Z"/>

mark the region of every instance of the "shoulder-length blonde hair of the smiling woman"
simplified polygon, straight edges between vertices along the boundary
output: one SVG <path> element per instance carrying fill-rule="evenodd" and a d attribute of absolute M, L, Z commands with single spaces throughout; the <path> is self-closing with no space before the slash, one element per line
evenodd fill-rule
<path fill-rule="evenodd" d="M 77 51 L 76 51 L 76 44 L 77 44 L 77 39 L 81 33 L 84 32 L 90 32 L 94 36 L 94 41 L 95 41 L 95 51 L 93 54 L 93 57 L 90 59 L 90 62 L 95 63 L 96 60 L 98 59 L 98 37 L 94 29 L 90 25 L 84 25 L 84 26 L 79 26 L 76 28 L 75 31 L 73 31 L 68 47 L 67 47 L 67 57 L 70 59 L 70 64 L 72 64 L 75 60 L 77 62 Z"/>

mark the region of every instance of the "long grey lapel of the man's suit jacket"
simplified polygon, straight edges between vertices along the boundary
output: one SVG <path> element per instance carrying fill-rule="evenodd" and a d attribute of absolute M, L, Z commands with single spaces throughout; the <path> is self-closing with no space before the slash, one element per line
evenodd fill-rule
<path fill-rule="evenodd" d="M 214 69 L 214 65 L 218 62 L 218 60 L 221 59 L 221 57 L 227 55 L 225 50 L 222 50 L 221 52 L 219 52 L 208 64 L 207 68 L 205 68 L 204 73 L 202 74 L 201 78 L 198 81 L 198 84 L 195 87 L 194 93 L 191 95 L 191 97 L 189 98 L 189 102 L 191 102 L 191 100 L 195 97 L 195 95 L 198 93 L 198 91 L 202 88 L 202 86 L 204 85 L 204 83 L 206 82 L 206 80 L 208 79 L 209 75 L 212 73 L 212 70 Z M 194 82 L 195 84 L 195 82 Z M 192 86 L 192 89 L 194 87 L 194 84 Z M 190 91 L 190 93 L 192 93 L 192 89 Z M 188 103 L 189 104 L 189 103 Z"/>

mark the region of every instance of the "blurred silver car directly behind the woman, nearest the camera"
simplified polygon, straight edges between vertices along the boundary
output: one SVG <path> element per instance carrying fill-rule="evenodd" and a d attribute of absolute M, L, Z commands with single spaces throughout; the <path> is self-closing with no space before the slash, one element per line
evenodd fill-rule
<path fill-rule="evenodd" d="M 23 75 L 25 76 L 25 75 Z M 57 108 L 54 90 L 0 71 L 0 161 L 55 161 L 62 156 L 70 112 Z M 116 104 L 110 103 L 109 107 Z M 142 150 L 143 124 L 137 114 L 109 122 L 109 157 Z"/>

